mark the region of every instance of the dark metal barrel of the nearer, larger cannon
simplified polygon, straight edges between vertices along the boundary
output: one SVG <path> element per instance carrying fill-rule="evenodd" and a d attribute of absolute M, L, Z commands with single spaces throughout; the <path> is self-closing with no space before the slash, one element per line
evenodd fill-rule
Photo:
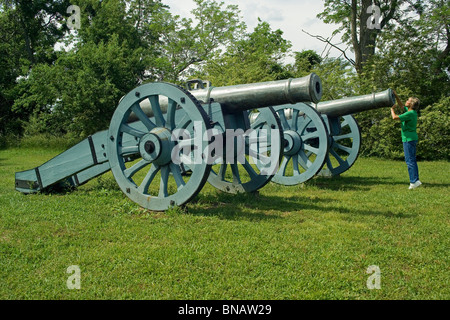
<path fill-rule="evenodd" d="M 210 99 L 218 102 L 229 113 L 271 107 L 297 102 L 318 103 L 322 98 L 322 82 L 315 73 L 302 78 L 240 84 L 224 87 L 209 87 L 190 92 L 197 100 L 208 103 Z M 161 111 L 167 112 L 167 99 L 159 101 Z M 149 117 L 153 111 L 148 100 L 140 103 Z M 131 115 L 129 121 L 137 120 Z"/>

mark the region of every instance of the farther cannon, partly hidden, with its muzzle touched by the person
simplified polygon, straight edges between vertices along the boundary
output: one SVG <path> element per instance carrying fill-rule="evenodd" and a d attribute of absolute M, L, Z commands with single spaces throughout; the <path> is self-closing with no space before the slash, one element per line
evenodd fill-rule
<path fill-rule="evenodd" d="M 274 106 L 283 128 L 285 148 L 272 181 L 296 185 L 315 175 L 342 174 L 356 161 L 361 145 L 360 128 L 352 114 L 394 103 L 393 91 L 388 89 L 317 104 Z"/>

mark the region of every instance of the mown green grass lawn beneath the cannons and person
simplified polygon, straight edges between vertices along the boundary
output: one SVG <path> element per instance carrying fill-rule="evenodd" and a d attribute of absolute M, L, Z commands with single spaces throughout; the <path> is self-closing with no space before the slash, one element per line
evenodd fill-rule
<path fill-rule="evenodd" d="M 110 173 L 23 195 L 14 172 L 62 150 L 0 151 L 0 299 L 449 299 L 449 162 L 360 158 L 341 177 L 149 212 Z M 69 266 L 81 289 L 69 290 Z M 381 270 L 369 290 L 366 270 Z"/>

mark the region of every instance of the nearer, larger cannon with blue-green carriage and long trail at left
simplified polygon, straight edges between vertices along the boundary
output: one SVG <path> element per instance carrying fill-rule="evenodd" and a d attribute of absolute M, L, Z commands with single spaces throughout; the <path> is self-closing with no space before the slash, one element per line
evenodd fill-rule
<path fill-rule="evenodd" d="M 188 91 L 156 82 L 133 89 L 119 102 L 107 130 L 17 172 L 16 190 L 77 187 L 111 171 L 125 195 L 155 211 L 189 202 L 207 181 L 225 192 L 254 192 L 272 179 L 283 156 L 282 124 L 273 107 L 318 103 L 322 96 L 315 74 L 197 86 Z"/>

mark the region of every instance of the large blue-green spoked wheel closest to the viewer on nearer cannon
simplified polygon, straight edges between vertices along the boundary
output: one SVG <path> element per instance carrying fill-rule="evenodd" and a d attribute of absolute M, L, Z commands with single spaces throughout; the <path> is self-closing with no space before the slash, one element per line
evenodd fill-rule
<path fill-rule="evenodd" d="M 144 103 L 150 105 L 152 118 L 141 107 Z M 192 161 L 189 153 L 180 150 L 205 150 L 208 141 L 190 134 L 193 127 L 202 134 L 209 123 L 200 103 L 180 87 L 151 83 L 128 93 L 108 131 L 108 158 L 121 190 L 140 206 L 156 211 L 191 200 L 206 183 L 211 165 Z M 179 131 L 188 138 L 178 140 Z M 130 157 L 134 161 L 127 163 Z M 189 162 L 191 175 L 182 176 L 183 162 Z"/>

